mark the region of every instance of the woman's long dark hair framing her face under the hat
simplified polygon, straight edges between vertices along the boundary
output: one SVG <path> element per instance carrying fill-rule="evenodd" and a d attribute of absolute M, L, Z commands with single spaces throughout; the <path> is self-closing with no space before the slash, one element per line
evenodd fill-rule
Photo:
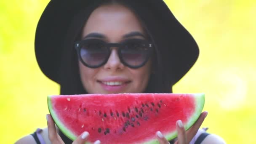
<path fill-rule="evenodd" d="M 140 7 L 138 3 L 136 3 L 137 9 L 134 7 L 131 7 L 131 2 L 123 1 L 123 0 L 104 0 L 104 3 L 96 3 L 93 6 L 90 6 L 91 8 L 87 7 L 86 10 L 81 10 L 80 13 L 77 13 L 77 15 L 74 17 L 74 20 L 72 21 L 72 24 L 70 25 L 69 31 L 67 32 L 67 37 L 65 40 L 65 43 L 63 45 L 64 53 L 62 54 L 62 63 L 61 63 L 61 69 L 59 72 L 60 76 L 60 85 L 61 85 L 61 94 L 85 94 L 87 93 L 86 90 L 83 88 L 82 82 L 80 80 L 80 74 L 79 74 L 79 68 L 78 68 L 78 59 L 77 54 L 75 51 L 75 48 L 73 46 L 73 43 L 75 40 L 80 39 L 80 32 L 83 28 L 83 25 L 85 24 L 85 21 L 90 16 L 91 12 L 100 5 L 107 5 L 107 4 L 122 4 L 126 7 L 130 8 L 132 11 L 134 11 L 136 14 L 138 13 L 138 8 L 140 8 L 140 12 L 142 9 L 142 6 Z M 89 9 L 88 9 L 89 8 Z M 143 14 L 146 13 L 147 14 Z M 142 14 L 144 16 L 149 17 L 146 19 L 152 19 L 152 15 L 148 14 L 149 11 L 144 8 L 144 11 L 142 10 Z M 141 16 L 137 14 L 139 19 L 141 19 Z M 154 27 L 147 27 L 148 22 L 142 21 L 142 24 L 149 35 L 149 38 L 152 40 L 152 43 L 154 43 L 155 47 L 155 54 L 154 58 L 152 60 L 152 69 L 153 72 L 150 75 L 148 86 L 145 90 L 145 93 L 170 93 L 172 92 L 171 89 L 171 80 L 170 77 L 168 77 L 167 73 L 165 73 L 165 70 L 163 69 L 163 62 L 161 54 L 158 51 L 157 45 L 155 44 L 155 37 L 152 35 L 151 30 L 152 28 L 158 29 L 159 23 L 156 21 L 150 21 L 153 22 L 151 25 L 154 25 Z M 155 30 L 154 29 L 154 30 Z M 155 30 L 156 31 L 156 30 Z M 162 42 L 161 42 L 162 43 Z"/>

